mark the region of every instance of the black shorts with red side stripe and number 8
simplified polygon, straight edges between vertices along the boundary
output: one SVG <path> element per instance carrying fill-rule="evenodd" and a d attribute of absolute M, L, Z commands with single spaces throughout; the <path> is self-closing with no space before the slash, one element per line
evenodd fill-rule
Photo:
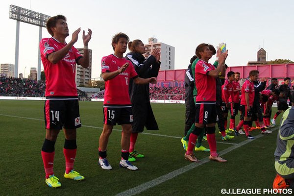
<path fill-rule="evenodd" d="M 217 104 L 216 103 L 198 103 L 196 104 L 195 123 L 209 124 L 217 122 Z"/>

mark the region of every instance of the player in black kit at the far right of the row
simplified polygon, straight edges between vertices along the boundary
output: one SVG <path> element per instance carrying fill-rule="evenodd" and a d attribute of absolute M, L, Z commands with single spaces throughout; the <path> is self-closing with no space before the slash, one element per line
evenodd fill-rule
<path fill-rule="evenodd" d="M 281 92 L 279 100 L 278 100 L 278 111 L 276 112 L 276 114 L 274 115 L 273 119 L 271 120 L 271 123 L 273 125 L 275 125 L 275 120 L 276 118 L 282 113 L 282 111 L 285 111 L 289 108 L 288 104 L 287 104 L 287 100 L 289 98 L 290 100 L 290 104 L 292 106 L 294 106 L 294 101 L 290 92 L 290 88 L 289 88 L 289 83 L 290 83 L 290 78 L 289 77 L 285 77 L 284 78 L 284 84 L 281 84 L 278 89 Z"/>

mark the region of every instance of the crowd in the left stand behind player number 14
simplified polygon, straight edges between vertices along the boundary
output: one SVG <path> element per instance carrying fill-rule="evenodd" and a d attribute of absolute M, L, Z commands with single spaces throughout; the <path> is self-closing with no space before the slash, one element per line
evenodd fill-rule
<path fill-rule="evenodd" d="M 45 97 L 46 84 L 42 80 L 27 78 L 0 77 L 0 96 L 9 97 Z M 80 100 L 88 99 L 88 95 L 77 90 Z"/>

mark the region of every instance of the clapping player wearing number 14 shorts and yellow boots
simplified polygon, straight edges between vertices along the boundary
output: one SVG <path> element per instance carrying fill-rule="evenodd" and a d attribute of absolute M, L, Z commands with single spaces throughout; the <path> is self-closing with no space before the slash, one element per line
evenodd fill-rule
<path fill-rule="evenodd" d="M 81 126 L 77 90 L 75 84 L 75 64 L 89 67 L 90 57 L 88 43 L 92 31 L 83 31 L 84 56 L 80 55 L 73 44 L 78 39 L 80 28 L 75 30 L 72 40 L 67 44 L 66 37 L 69 29 L 66 18 L 57 15 L 49 18 L 46 23 L 51 38 L 44 38 L 40 42 L 41 59 L 46 76 L 46 100 L 44 107 L 46 136 L 42 147 L 42 159 L 46 173 L 46 184 L 49 187 L 60 187 L 61 183 L 54 176 L 53 162 L 55 141 L 60 129 L 63 128 L 65 142 L 63 153 L 65 156 L 65 178 L 83 180 L 78 172 L 73 170 L 76 155 L 76 128 Z"/>

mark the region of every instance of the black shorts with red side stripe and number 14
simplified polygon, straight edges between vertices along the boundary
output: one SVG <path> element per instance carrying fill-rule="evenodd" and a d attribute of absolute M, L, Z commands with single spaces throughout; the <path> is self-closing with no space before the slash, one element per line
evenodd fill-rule
<path fill-rule="evenodd" d="M 48 98 L 44 106 L 45 128 L 60 130 L 81 127 L 78 99 Z"/>

